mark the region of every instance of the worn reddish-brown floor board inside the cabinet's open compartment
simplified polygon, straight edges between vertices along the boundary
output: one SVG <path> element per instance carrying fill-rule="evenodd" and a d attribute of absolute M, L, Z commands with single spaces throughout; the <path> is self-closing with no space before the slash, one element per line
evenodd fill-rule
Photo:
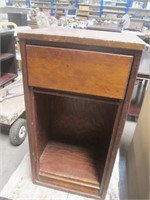
<path fill-rule="evenodd" d="M 100 158 L 96 149 L 50 141 L 40 158 L 40 172 L 98 189 L 104 168 Z"/>

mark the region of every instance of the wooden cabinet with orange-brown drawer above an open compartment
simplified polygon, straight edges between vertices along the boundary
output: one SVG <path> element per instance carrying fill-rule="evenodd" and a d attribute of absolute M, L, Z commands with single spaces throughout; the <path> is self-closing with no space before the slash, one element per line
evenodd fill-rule
<path fill-rule="evenodd" d="M 33 182 L 47 187 L 69 190 L 93 198 L 99 198 L 100 196 L 102 199 L 105 199 L 141 57 L 141 51 L 135 51 L 135 47 L 142 50 L 143 43 L 140 39 L 136 40 L 136 37 L 129 42 L 132 38 L 122 34 L 119 34 L 118 38 L 116 37 L 113 41 L 110 39 L 112 37 L 111 33 L 107 33 L 106 37 L 104 37 L 104 32 L 103 34 L 98 32 L 101 36 L 103 35 L 100 38 L 97 32 L 92 31 L 87 31 L 87 35 L 84 37 L 83 33 L 85 34 L 86 32 L 82 30 L 81 32 L 78 30 L 79 36 L 77 35 L 77 30 L 68 31 L 63 29 L 60 32 L 59 30 L 54 28 L 49 29 L 50 32 L 46 33 L 43 30 L 37 30 L 20 34 Z M 108 38 L 108 35 L 110 38 Z M 66 45 L 65 42 L 68 44 Z M 37 45 L 36 53 L 38 52 L 39 60 L 35 58 L 32 51 L 29 50 L 29 52 L 27 50 L 27 48 L 31 47 L 29 44 L 33 45 L 33 43 L 35 46 Z M 55 43 L 57 43 L 57 48 Z M 39 50 L 37 50 L 38 48 Z M 43 49 L 42 51 L 41 48 Z M 55 58 L 57 58 L 60 52 L 62 53 L 62 48 L 63 52 L 69 52 L 67 54 L 70 57 L 71 55 L 74 57 L 76 52 L 81 52 L 82 56 L 79 56 L 80 59 L 76 61 L 75 58 L 71 60 L 65 55 L 64 58 L 62 57 L 59 60 L 61 64 L 58 64 L 58 61 L 54 62 L 54 52 L 51 51 L 53 55 L 51 59 L 47 58 L 49 50 L 45 49 L 50 48 L 55 53 L 57 52 Z M 56 49 L 60 49 L 60 52 L 55 51 Z M 96 53 L 93 52 L 95 49 Z M 45 57 L 44 53 L 40 54 L 39 52 L 45 52 Z M 84 54 L 87 54 L 87 56 Z M 117 72 L 112 71 L 111 76 L 107 69 L 106 58 L 102 56 L 101 63 L 104 61 L 104 64 L 101 67 L 103 66 L 106 69 L 101 69 L 101 76 L 97 76 L 97 73 L 93 71 L 97 70 L 94 63 L 98 65 L 98 61 L 95 61 L 93 58 L 91 60 L 89 54 L 111 55 L 115 56 L 116 60 L 119 58 L 119 61 L 115 62 L 115 68 L 113 68 Z M 118 54 L 120 55 L 118 56 Z M 30 65 L 31 55 L 33 55 L 34 60 L 33 66 Z M 87 88 L 83 87 L 81 83 L 81 93 L 74 90 L 70 91 L 69 89 L 65 91 L 63 87 L 66 83 L 63 83 L 62 80 L 60 80 L 62 87 L 59 85 L 58 89 L 53 88 L 54 83 L 46 83 L 46 81 L 48 82 L 46 78 L 48 75 L 49 78 L 54 76 L 53 82 L 56 80 L 56 85 L 59 84 L 58 77 L 62 78 L 65 75 L 63 62 L 65 65 L 68 63 L 73 68 L 74 65 L 72 63 L 75 62 L 80 66 L 78 70 L 81 70 L 84 78 L 88 77 L 90 79 L 86 72 L 87 61 L 82 62 L 82 65 L 80 64 L 84 56 L 90 63 L 89 68 L 91 71 L 88 68 L 88 74 L 91 72 L 93 76 L 97 77 L 97 81 L 98 77 L 100 79 L 108 72 L 110 79 L 111 77 L 113 79 L 111 80 L 112 82 L 109 82 L 110 87 L 113 85 L 111 83 L 114 83 L 114 80 L 116 80 L 116 76 L 113 76 L 113 73 L 117 75 L 124 71 L 122 69 L 122 64 L 124 63 L 122 59 L 133 57 L 133 62 L 127 59 L 131 64 L 131 70 L 129 65 L 127 66 L 129 76 L 127 73 L 123 73 L 125 78 L 122 77 L 127 83 L 120 84 L 121 87 L 124 85 L 122 99 L 112 98 L 108 93 L 99 93 L 99 96 L 96 96 L 95 93 L 91 92 L 92 89 L 90 89 L 90 92 L 87 92 Z M 111 56 L 109 58 L 112 58 Z M 114 60 L 111 59 L 111 61 Z M 52 64 L 50 64 L 51 62 Z M 109 60 L 108 63 L 114 67 Z M 37 65 L 41 71 L 36 71 Z M 41 68 L 41 65 L 44 67 Z M 55 69 L 59 69 L 60 72 L 57 71 L 56 73 L 55 70 L 52 70 L 52 75 L 50 75 L 49 66 L 54 68 L 56 66 Z M 61 68 L 60 66 L 63 67 Z M 30 68 L 35 71 L 30 73 Z M 47 70 L 43 72 L 45 69 Z M 118 73 L 118 70 L 120 70 L 120 73 Z M 42 79 L 39 81 L 40 73 L 42 74 Z M 64 73 L 64 75 L 58 76 L 59 73 Z M 67 73 L 68 71 L 66 71 L 66 77 Z M 30 82 L 34 80 L 35 77 L 32 77 L 34 74 L 38 76 L 38 84 L 35 86 Z M 80 76 L 80 74 L 78 75 Z M 78 76 L 73 75 L 72 77 L 74 82 L 79 81 Z M 44 78 L 46 81 L 43 80 Z M 101 82 L 101 79 L 99 82 Z M 70 83 L 71 81 L 68 85 Z M 95 90 L 95 84 L 94 79 L 93 90 Z M 119 81 L 116 87 L 120 87 L 118 84 Z"/>

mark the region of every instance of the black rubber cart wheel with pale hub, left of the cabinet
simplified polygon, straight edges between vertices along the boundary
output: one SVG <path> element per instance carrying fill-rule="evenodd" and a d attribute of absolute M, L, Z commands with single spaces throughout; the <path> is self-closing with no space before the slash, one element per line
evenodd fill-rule
<path fill-rule="evenodd" d="M 9 131 L 10 142 L 18 146 L 22 144 L 27 135 L 26 120 L 19 118 L 11 126 Z"/>

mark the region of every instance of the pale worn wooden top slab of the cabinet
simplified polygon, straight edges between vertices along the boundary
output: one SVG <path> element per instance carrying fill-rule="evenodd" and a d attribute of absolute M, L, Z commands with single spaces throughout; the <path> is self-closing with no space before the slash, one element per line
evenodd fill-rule
<path fill-rule="evenodd" d="M 18 34 L 20 39 L 95 45 L 121 49 L 143 50 L 145 42 L 136 35 L 70 28 L 32 29 Z"/>

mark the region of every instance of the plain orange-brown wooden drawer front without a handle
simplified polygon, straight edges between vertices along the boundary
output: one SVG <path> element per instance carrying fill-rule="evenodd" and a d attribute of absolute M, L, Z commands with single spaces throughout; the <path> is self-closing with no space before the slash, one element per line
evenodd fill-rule
<path fill-rule="evenodd" d="M 132 56 L 27 45 L 30 86 L 123 99 Z"/>

